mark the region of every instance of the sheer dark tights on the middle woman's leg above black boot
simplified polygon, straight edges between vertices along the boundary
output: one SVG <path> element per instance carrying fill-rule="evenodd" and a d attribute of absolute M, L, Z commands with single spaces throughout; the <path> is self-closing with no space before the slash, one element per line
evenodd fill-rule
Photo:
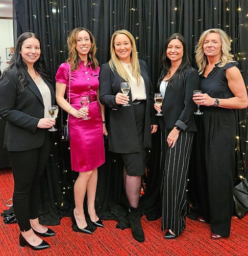
<path fill-rule="evenodd" d="M 129 204 L 133 208 L 139 205 L 139 197 L 141 190 L 141 176 L 129 176 L 123 168 L 123 181 Z"/>

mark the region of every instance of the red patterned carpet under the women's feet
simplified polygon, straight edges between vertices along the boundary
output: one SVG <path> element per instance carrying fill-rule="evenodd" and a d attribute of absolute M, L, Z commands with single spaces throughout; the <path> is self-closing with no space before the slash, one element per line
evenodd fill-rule
<path fill-rule="evenodd" d="M 13 179 L 10 170 L 0 169 L 0 211 L 7 209 L 5 202 L 12 197 Z M 161 220 L 142 218 L 145 242 L 136 242 L 130 229 L 116 229 L 116 222 L 104 221 L 105 228 L 89 235 L 73 232 L 69 218 L 52 227 L 56 236 L 45 238 L 51 248 L 33 251 L 18 245 L 17 224 L 4 224 L 0 220 L 0 255 L 248 255 L 248 216 L 233 218 L 231 237 L 210 239 L 208 224 L 187 219 L 186 230 L 174 240 L 165 240 Z"/>

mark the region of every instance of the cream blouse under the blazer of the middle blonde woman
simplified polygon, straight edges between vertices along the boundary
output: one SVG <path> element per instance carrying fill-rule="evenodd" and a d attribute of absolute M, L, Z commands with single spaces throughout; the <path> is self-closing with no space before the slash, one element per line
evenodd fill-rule
<path fill-rule="evenodd" d="M 142 100 L 142 99 L 146 99 L 146 92 L 145 92 L 145 84 L 144 84 L 144 79 L 142 76 L 140 76 L 140 80 L 139 83 L 137 83 L 137 81 L 135 80 L 135 78 L 132 75 L 132 67 L 131 67 L 131 63 L 127 64 L 123 61 L 120 61 L 123 65 L 123 67 L 126 69 L 126 71 L 128 72 L 131 81 L 130 83 L 130 89 L 131 89 L 131 93 L 132 93 L 132 101 L 134 100 Z"/>

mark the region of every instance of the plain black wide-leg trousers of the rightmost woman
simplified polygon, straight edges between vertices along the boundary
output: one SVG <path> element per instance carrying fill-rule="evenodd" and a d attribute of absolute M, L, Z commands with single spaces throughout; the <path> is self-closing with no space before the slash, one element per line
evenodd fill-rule
<path fill-rule="evenodd" d="M 196 184 L 204 218 L 213 233 L 229 237 L 235 174 L 235 116 L 231 109 L 208 107 L 198 117 Z"/>

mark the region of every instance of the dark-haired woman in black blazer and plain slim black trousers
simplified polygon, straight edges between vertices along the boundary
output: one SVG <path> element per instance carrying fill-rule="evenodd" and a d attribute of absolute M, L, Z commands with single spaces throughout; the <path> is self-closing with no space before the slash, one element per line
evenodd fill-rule
<path fill-rule="evenodd" d="M 33 33 L 23 33 L 0 82 L 0 117 L 7 121 L 4 144 L 14 177 L 13 206 L 21 230 L 19 244 L 34 250 L 49 247 L 37 234 L 55 235 L 38 220 L 39 183 L 50 145 L 47 128 L 55 124 L 48 117 L 55 93 L 47 79 L 40 40 Z"/>

